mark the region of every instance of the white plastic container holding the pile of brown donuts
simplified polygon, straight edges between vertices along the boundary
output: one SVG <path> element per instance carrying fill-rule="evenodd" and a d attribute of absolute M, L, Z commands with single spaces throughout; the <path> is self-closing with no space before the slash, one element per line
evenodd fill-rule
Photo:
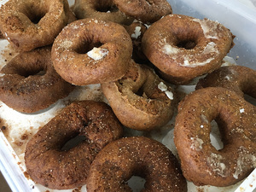
<path fill-rule="evenodd" d="M 5 3 L 7 0 L 0 0 L 1 3 Z M 73 4 L 74 1 L 69 1 Z M 190 15 L 195 18 L 209 18 L 211 20 L 218 20 L 224 26 L 230 28 L 230 31 L 236 35 L 234 39 L 235 47 L 230 50 L 229 55 L 234 58 L 238 65 L 251 67 L 256 70 L 256 9 L 248 7 L 246 4 L 241 3 L 238 0 L 168 0 L 172 5 L 174 14 Z M 3 63 L 3 57 L 1 58 L 1 51 L 3 51 L 7 45 L 6 40 L 0 40 L 0 64 Z M 0 65 L 2 66 L 2 64 Z M 99 94 L 98 85 L 89 87 L 94 90 L 94 94 Z M 184 90 L 190 91 L 190 90 Z M 92 93 L 92 92 L 90 92 Z M 73 96 L 90 98 L 90 93 L 84 93 L 83 90 L 76 90 Z M 17 113 L 12 109 L 7 108 L 0 103 L 0 118 L 6 119 L 9 125 L 15 125 L 20 127 L 33 126 L 36 130 L 39 125 L 45 124 L 51 117 L 53 117 L 59 108 L 63 108 L 63 102 L 57 102 L 53 108 L 49 108 L 49 111 L 44 113 L 34 114 L 26 116 L 24 120 L 24 114 Z M 15 116 L 15 121 L 11 122 L 12 117 Z M 172 125 L 170 122 L 167 126 Z M 19 133 L 18 133 L 19 134 Z M 163 133 L 164 135 L 155 134 L 152 137 L 166 144 L 175 153 L 173 138 L 173 129 L 171 131 Z M 26 178 L 26 167 L 24 166 L 24 160 L 22 154 L 18 149 L 15 151 L 10 144 L 10 140 L 3 135 L 0 130 L 0 170 L 3 176 L 9 183 L 10 188 L 14 192 L 20 191 L 57 191 L 52 189 L 46 189 L 41 185 L 35 184 L 32 180 Z M 17 155 L 19 154 L 19 155 Z M 205 192 L 233 192 L 238 191 L 253 191 L 255 188 L 256 178 L 255 172 L 253 172 L 244 183 L 237 183 L 236 185 L 227 188 L 217 188 L 211 186 L 196 187 L 193 183 L 188 183 L 189 192 L 191 191 L 205 191 Z M 241 186 L 240 186 L 241 184 Z M 85 187 L 79 189 L 80 191 L 86 191 Z M 72 191 L 72 190 L 61 190 Z M 256 190 L 254 190 L 255 192 Z"/>

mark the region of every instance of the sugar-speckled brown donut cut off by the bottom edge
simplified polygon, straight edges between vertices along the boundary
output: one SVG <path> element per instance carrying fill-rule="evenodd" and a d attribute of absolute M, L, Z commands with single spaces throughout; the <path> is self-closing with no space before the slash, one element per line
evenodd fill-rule
<path fill-rule="evenodd" d="M 123 137 L 96 155 L 87 192 L 131 191 L 127 181 L 132 176 L 145 178 L 142 191 L 187 191 L 177 159 L 166 146 L 148 137 Z"/>

